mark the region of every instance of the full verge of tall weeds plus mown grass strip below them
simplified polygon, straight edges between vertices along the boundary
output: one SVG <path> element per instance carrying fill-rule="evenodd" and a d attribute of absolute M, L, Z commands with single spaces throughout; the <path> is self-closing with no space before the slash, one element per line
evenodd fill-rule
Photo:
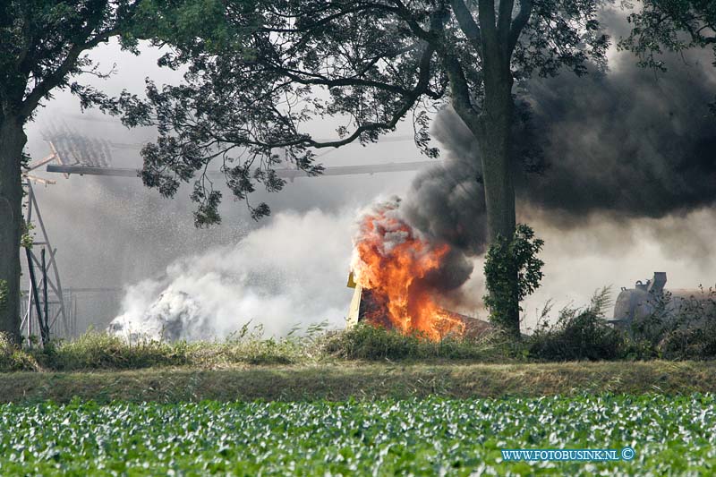
<path fill-rule="evenodd" d="M 618 330 L 600 294 L 519 341 L 499 332 L 434 342 L 369 326 L 265 339 L 128 344 L 90 332 L 40 348 L 0 339 L 1 401 L 346 399 L 716 391 L 716 319 Z M 689 321 L 689 319 L 693 319 Z M 685 326 L 685 323 L 698 323 Z M 668 361 L 665 361 L 668 360 Z"/>

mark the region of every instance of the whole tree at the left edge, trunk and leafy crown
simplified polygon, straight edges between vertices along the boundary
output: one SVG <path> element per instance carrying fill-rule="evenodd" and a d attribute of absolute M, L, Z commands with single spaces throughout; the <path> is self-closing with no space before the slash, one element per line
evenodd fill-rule
<path fill-rule="evenodd" d="M 0 3 L 0 332 L 20 337 L 20 240 L 25 125 L 56 89 L 82 106 L 113 107 L 73 76 L 103 73 L 85 55 L 118 35 L 139 0 L 4 0 Z M 136 51 L 136 41 L 124 38 Z"/>

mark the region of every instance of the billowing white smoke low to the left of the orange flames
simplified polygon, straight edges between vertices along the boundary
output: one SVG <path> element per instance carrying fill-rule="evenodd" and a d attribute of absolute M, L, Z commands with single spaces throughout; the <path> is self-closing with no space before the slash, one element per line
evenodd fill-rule
<path fill-rule="evenodd" d="M 177 260 L 127 288 L 109 330 L 132 338 L 221 338 L 251 322 L 270 335 L 345 325 L 355 213 L 282 212 L 233 247 Z"/>

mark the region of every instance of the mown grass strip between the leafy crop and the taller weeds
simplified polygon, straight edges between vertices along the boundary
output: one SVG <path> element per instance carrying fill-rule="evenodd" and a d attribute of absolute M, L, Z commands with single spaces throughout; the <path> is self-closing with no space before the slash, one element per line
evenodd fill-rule
<path fill-rule="evenodd" d="M 573 396 L 716 392 L 716 362 L 335 362 L 226 369 L 0 373 L 0 402 L 68 402 L 73 396 L 178 403 L 231 400 L 396 399 L 429 395 Z"/>

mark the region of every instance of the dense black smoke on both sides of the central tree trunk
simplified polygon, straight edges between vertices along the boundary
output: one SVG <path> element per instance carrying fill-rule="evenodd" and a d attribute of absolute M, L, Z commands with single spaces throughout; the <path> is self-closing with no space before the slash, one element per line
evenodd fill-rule
<path fill-rule="evenodd" d="M 711 55 L 706 52 L 703 55 Z M 713 66 L 671 57 L 658 76 L 622 55 L 610 72 L 564 73 L 524 86 L 529 134 L 516 132 L 516 194 L 521 219 L 571 229 L 593 217 L 662 218 L 716 201 L 716 95 Z M 485 250 L 478 144 L 446 108 L 433 134 L 447 159 L 418 175 L 405 200 L 410 223 L 468 256 Z M 540 174 L 524 151 L 539 151 Z"/>

